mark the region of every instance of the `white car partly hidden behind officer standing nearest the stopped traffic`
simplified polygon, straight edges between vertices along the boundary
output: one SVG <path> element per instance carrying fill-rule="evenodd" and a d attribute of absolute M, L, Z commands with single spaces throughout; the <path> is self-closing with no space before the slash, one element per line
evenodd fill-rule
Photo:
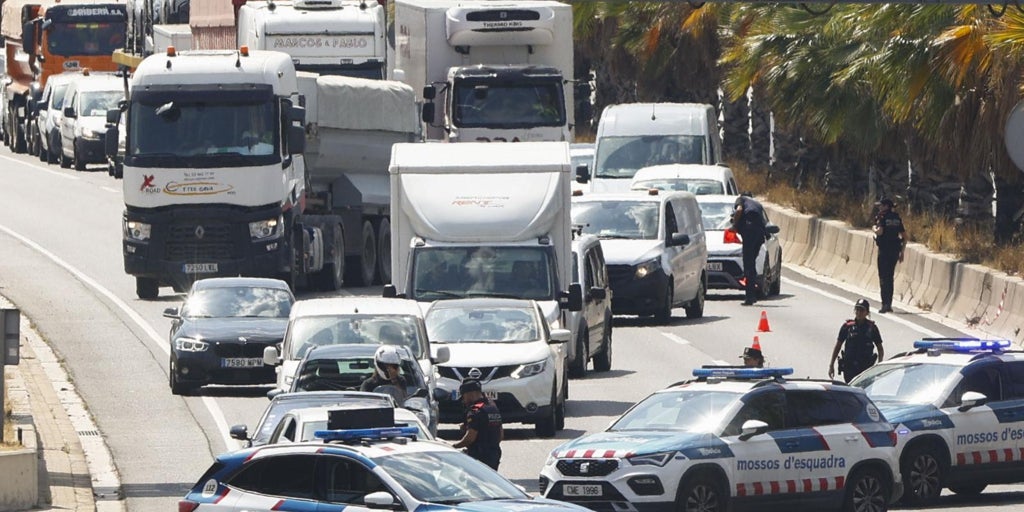
<path fill-rule="evenodd" d="M 708 233 L 708 288 L 744 290 L 743 243 L 729 230 L 736 196 L 697 196 L 705 232 Z M 782 245 L 778 226 L 765 214 L 767 236 L 758 253 L 758 295 L 767 298 L 782 289 Z"/>

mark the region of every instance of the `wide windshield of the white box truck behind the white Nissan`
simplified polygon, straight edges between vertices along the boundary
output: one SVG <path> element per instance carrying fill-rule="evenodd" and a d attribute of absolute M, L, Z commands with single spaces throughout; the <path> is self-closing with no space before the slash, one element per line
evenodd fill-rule
<path fill-rule="evenodd" d="M 554 300 L 555 264 L 545 247 L 433 247 L 413 253 L 410 296 Z"/>

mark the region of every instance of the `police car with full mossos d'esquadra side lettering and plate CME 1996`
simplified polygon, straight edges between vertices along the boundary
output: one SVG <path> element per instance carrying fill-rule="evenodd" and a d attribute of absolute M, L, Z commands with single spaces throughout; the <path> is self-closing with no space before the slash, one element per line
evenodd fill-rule
<path fill-rule="evenodd" d="M 541 494 L 615 512 L 887 510 L 901 492 L 892 425 L 860 389 L 792 373 L 696 369 L 555 449 Z"/>

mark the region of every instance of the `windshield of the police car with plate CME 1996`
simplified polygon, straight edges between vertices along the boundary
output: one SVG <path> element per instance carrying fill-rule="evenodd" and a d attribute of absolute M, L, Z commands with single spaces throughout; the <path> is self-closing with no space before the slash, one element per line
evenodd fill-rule
<path fill-rule="evenodd" d="M 734 391 L 666 391 L 654 393 L 608 429 L 609 432 L 630 430 L 679 430 L 713 432 L 722 424 L 723 415 L 742 393 Z"/>

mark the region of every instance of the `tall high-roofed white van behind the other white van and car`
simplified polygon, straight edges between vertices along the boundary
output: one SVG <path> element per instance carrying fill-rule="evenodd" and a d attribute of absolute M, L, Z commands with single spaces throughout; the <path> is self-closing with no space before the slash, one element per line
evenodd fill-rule
<path fill-rule="evenodd" d="M 594 168 L 577 171 L 592 191 L 628 190 L 637 170 L 664 164 L 722 162 L 715 108 L 702 103 L 623 103 L 604 109 Z"/>

